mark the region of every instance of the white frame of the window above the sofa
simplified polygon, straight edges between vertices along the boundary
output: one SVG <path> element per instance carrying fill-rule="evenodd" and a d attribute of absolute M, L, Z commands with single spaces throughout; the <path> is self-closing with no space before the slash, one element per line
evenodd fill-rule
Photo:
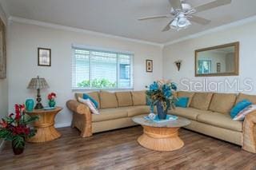
<path fill-rule="evenodd" d="M 81 49 L 81 50 L 87 50 L 87 51 L 94 51 L 94 52 L 100 52 L 100 53 L 115 53 L 116 54 L 116 69 L 117 69 L 117 75 L 116 75 L 116 87 L 114 88 L 93 88 L 93 87 L 78 87 L 76 85 L 76 87 L 73 86 L 73 67 L 74 67 L 74 63 L 73 63 L 73 59 L 74 59 L 74 53 L 75 53 L 75 49 Z M 120 50 L 115 50 L 115 49 L 105 49 L 105 48 L 98 48 L 98 47 L 94 47 L 94 46 L 90 46 L 90 45 L 72 45 L 71 47 L 72 50 L 72 57 L 71 57 L 71 89 L 72 91 L 81 91 L 81 90 L 133 90 L 134 89 L 134 53 L 131 52 L 127 52 L 127 51 L 120 51 Z M 119 68 L 119 56 L 120 55 L 129 55 L 130 56 L 130 87 L 120 87 L 118 88 L 118 84 L 120 81 L 120 68 Z M 89 57 L 89 69 L 90 69 L 90 57 Z M 89 79 L 91 79 L 91 69 L 89 71 Z M 91 80 L 90 80 L 91 81 Z"/>

